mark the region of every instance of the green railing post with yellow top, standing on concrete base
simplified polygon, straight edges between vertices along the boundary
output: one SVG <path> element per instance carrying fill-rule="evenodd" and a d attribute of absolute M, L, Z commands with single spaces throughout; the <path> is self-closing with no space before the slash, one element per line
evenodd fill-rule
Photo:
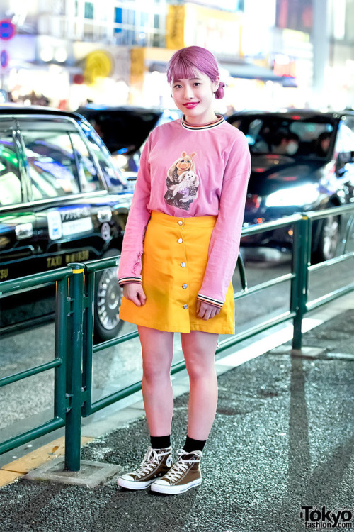
<path fill-rule="evenodd" d="M 81 387 L 82 387 L 82 336 L 84 323 L 84 265 L 69 264 L 72 278 L 69 294 L 72 303 L 70 338 L 67 353 L 67 417 L 65 424 L 65 465 L 67 471 L 80 470 L 81 451 Z"/>

